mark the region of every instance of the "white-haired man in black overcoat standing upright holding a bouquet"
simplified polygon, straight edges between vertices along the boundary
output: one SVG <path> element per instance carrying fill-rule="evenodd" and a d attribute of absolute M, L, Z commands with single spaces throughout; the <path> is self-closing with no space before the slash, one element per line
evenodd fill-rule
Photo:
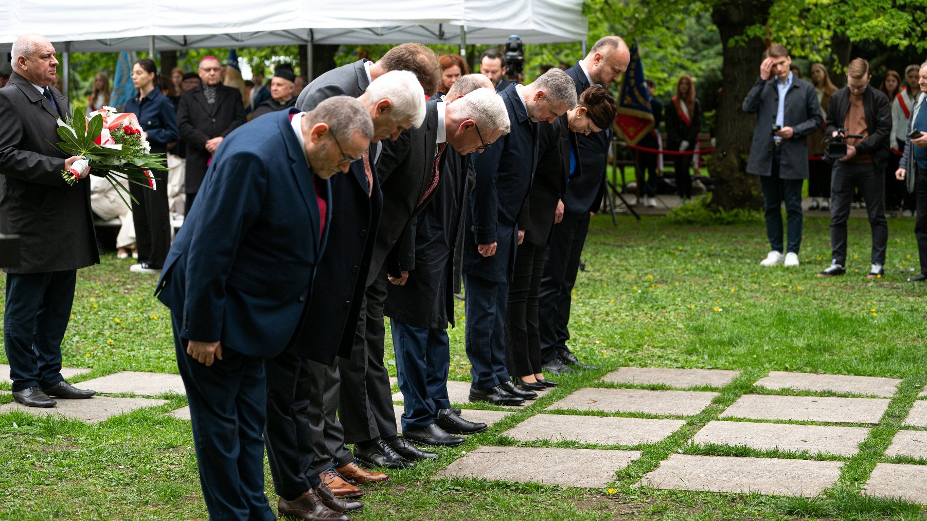
<path fill-rule="evenodd" d="M 61 172 L 88 173 L 79 156 L 54 144 L 68 98 L 51 84 L 55 47 L 39 34 L 19 36 L 13 71 L 0 89 L 0 233 L 20 236 L 18 266 L 7 266 L 4 344 L 13 400 L 54 407 L 50 397 L 90 398 L 61 376 L 61 339 L 77 270 L 100 261 L 90 210 L 90 183 L 67 184 Z M 83 167 L 80 165 L 83 164 Z"/>

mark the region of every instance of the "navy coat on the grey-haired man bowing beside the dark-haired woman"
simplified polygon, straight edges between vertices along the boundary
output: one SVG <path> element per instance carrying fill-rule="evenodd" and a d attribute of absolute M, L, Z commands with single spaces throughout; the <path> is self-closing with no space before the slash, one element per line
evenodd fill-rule
<path fill-rule="evenodd" d="M 464 246 L 464 273 L 505 282 L 514 266 L 518 214 L 538 165 L 538 125 L 528 119 L 514 83 L 500 95 L 512 131 L 474 155 L 476 186 L 467 213 L 470 235 Z M 492 242 L 497 243 L 496 254 L 480 255 L 476 246 Z"/>

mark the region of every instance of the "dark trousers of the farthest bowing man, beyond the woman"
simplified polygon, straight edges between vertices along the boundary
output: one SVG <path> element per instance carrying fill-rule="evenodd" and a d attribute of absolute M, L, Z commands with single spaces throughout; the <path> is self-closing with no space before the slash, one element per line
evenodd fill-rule
<path fill-rule="evenodd" d="M 589 213 L 565 213 L 563 221 L 553 225 L 538 293 L 540 359 L 544 363 L 570 352 L 566 347 L 570 339 L 570 297 L 589 222 Z"/>

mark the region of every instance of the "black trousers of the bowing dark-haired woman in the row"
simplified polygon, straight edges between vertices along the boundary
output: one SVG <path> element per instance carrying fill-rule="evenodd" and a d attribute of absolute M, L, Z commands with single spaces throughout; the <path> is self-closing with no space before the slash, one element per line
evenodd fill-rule
<path fill-rule="evenodd" d="M 541 372 L 538 294 L 546 248 L 527 242 L 518 246 L 505 313 L 505 366 L 515 376 Z"/>

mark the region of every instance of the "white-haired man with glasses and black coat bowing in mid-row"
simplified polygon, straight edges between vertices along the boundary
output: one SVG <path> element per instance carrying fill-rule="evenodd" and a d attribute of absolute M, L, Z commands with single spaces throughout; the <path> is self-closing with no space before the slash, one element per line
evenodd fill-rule
<path fill-rule="evenodd" d="M 428 101 L 425 123 L 401 133 L 396 141 L 383 147 L 376 167 L 383 189 L 383 211 L 367 278 L 365 316 L 356 333 L 362 345 L 355 346 L 353 352 L 353 356 L 366 353 L 367 378 L 365 388 L 350 389 L 367 401 L 373 422 L 355 425 L 349 431 L 347 419 L 341 419 L 346 427 L 345 441 L 354 443 L 354 458 L 362 464 L 382 466 L 390 452 L 398 452 L 405 460 L 438 457 L 434 452 L 420 451 L 397 435 L 389 375 L 386 370 L 371 371 L 383 366 L 387 284 L 404 285 L 415 269 L 414 235 L 406 231 L 434 198 L 447 157 L 445 148 L 450 145 L 461 154 L 470 154 L 508 132 L 502 99 L 489 89 L 476 89 L 453 103 L 437 98 Z M 342 404 L 347 394 L 344 390 Z"/>

